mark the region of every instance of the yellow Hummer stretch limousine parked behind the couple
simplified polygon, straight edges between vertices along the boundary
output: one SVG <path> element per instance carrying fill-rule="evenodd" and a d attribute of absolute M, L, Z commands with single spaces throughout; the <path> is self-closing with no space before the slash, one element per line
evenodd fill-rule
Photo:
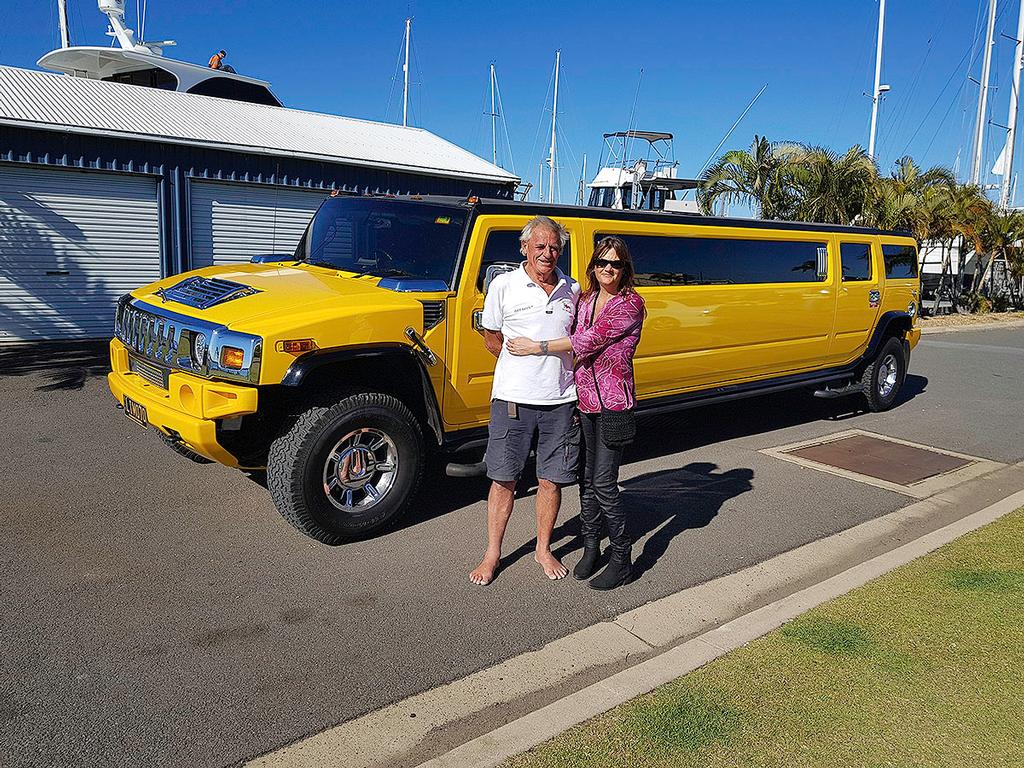
<path fill-rule="evenodd" d="M 366 536 L 410 505 L 429 454 L 450 474 L 478 456 L 484 291 L 540 213 L 568 229 L 560 267 L 577 280 L 597 240 L 629 244 L 648 312 L 641 413 L 797 387 L 894 404 L 921 336 L 909 236 L 472 197 L 331 197 L 294 254 L 133 291 L 111 391 L 197 462 L 265 468 L 306 535 Z"/>

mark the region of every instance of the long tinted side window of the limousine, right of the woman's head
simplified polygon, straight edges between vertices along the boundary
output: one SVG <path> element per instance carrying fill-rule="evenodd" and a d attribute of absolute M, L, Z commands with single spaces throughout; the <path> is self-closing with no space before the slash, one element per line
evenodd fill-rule
<path fill-rule="evenodd" d="M 600 232 L 596 240 L 615 232 Z M 617 234 L 617 233 L 615 233 Z M 618 234 L 633 256 L 638 286 L 818 283 L 824 243 Z"/>

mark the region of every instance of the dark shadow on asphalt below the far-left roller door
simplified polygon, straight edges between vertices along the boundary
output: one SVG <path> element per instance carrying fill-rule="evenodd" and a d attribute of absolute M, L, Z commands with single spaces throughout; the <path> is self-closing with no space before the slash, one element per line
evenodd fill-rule
<path fill-rule="evenodd" d="M 106 341 L 49 342 L 0 347 L 0 378 L 41 375 L 39 391 L 81 389 L 111 370 Z"/>

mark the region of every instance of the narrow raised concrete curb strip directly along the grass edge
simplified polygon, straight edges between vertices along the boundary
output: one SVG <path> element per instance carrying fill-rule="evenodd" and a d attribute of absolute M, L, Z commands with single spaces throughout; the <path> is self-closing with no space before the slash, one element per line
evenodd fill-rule
<path fill-rule="evenodd" d="M 1024 506 L 1024 490 L 996 502 L 938 530 L 926 534 L 892 552 L 826 579 L 665 653 L 612 675 L 525 717 L 468 741 L 420 768 L 493 768 L 510 757 L 541 744 L 572 726 L 586 722 L 725 655 L 801 613 L 860 587 L 959 537 Z"/>

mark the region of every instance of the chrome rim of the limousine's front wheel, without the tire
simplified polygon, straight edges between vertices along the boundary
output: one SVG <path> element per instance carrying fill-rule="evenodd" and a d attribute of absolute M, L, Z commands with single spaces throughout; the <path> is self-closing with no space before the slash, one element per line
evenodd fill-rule
<path fill-rule="evenodd" d="M 398 450 L 379 429 L 355 429 L 338 440 L 324 463 L 324 493 L 337 509 L 360 514 L 394 485 Z"/>

